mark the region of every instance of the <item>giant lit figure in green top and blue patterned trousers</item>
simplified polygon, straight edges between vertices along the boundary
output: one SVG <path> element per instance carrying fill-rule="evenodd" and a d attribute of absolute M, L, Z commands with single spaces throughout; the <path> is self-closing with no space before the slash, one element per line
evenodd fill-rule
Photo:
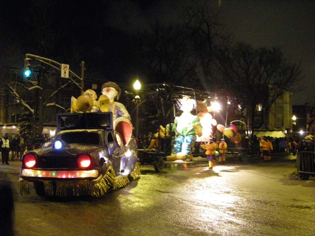
<path fill-rule="evenodd" d="M 172 131 L 175 131 L 176 139 L 174 143 L 173 155 L 168 160 L 191 159 L 191 148 L 196 140 L 196 134 L 201 135 L 201 125 L 199 118 L 190 112 L 194 108 L 195 100 L 188 97 L 181 99 L 181 108 L 183 111 L 180 117 L 175 117 Z M 176 157 L 175 157 L 176 155 Z"/>

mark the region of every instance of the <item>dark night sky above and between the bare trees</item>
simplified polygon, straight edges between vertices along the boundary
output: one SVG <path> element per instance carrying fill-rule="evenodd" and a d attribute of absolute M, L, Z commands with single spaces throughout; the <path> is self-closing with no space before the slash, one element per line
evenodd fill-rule
<path fill-rule="evenodd" d="M 35 15 L 32 1 L 4 1 L 0 7 L 1 35 L 11 35 L 20 42 L 21 53 L 28 51 L 25 36 L 32 30 L 25 19 Z M 40 0 L 33 2 L 42 2 Z M 182 0 L 47 0 L 57 2 L 50 25 L 59 30 L 60 44 L 67 50 L 76 45 L 79 58 L 87 63 L 91 77 L 126 78 L 132 68 L 121 72 L 128 64 L 136 42 L 128 37 L 153 19 L 177 23 Z M 190 2 L 190 1 L 189 1 Z M 209 0 L 214 9 L 221 4 L 222 22 L 234 41 L 244 41 L 254 47 L 280 47 L 284 57 L 293 63 L 301 62 L 305 90 L 293 95 L 294 105 L 314 104 L 315 95 L 315 1 L 314 0 Z M 22 24 L 21 24 L 22 23 Z M 52 31 L 54 31 L 52 30 Z M 29 32 L 32 33 L 32 32 Z M 132 45 L 132 46 L 131 46 Z M 2 43 L 3 46 L 3 43 Z M 25 50 L 25 51 L 23 51 Z M 136 48 L 134 48 L 136 50 Z M 64 63 L 64 62 L 62 62 Z M 96 68 L 98 72 L 96 72 Z M 94 71 L 94 72 L 91 72 Z M 90 74 L 89 74 L 90 73 Z M 117 79 L 118 80 L 118 79 Z"/>

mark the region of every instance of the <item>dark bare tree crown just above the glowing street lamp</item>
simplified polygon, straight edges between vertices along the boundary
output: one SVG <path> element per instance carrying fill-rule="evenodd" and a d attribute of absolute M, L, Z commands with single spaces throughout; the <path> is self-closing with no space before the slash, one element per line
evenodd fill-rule
<path fill-rule="evenodd" d="M 140 68 L 149 83 L 167 81 L 171 84 L 191 85 L 195 65 L 189 57 L 189 39 L 179 25 L 163 26 L 156 22 L 140 33 L 142 53 Z"/>

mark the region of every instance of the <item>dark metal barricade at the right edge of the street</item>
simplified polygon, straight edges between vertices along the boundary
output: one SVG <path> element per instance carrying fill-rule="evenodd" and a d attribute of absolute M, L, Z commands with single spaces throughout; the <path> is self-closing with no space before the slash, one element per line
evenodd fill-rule
<path fill-rule="evenodd" d="M 297 173 L 302 180 L 315 176 L 315 152 L 299 151 L 297 156 Z"/>

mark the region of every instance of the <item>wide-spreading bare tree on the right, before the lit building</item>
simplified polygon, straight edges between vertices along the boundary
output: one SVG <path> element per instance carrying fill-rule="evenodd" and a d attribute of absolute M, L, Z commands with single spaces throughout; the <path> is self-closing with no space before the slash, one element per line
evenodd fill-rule
<path fill-rule="evenodd" d="M 279 48 L 253 48 L 237 43 L 221 51 L 218 60 L 224 86 L 246 105 L 247 123 L 253 133 L 262 125 L 265 115 L 277 98 L 285 92 L 300 89 L 300 64 L 289 63 Z M 256 106 L 262 104 L 261 123 L 254 127 Z"/>

